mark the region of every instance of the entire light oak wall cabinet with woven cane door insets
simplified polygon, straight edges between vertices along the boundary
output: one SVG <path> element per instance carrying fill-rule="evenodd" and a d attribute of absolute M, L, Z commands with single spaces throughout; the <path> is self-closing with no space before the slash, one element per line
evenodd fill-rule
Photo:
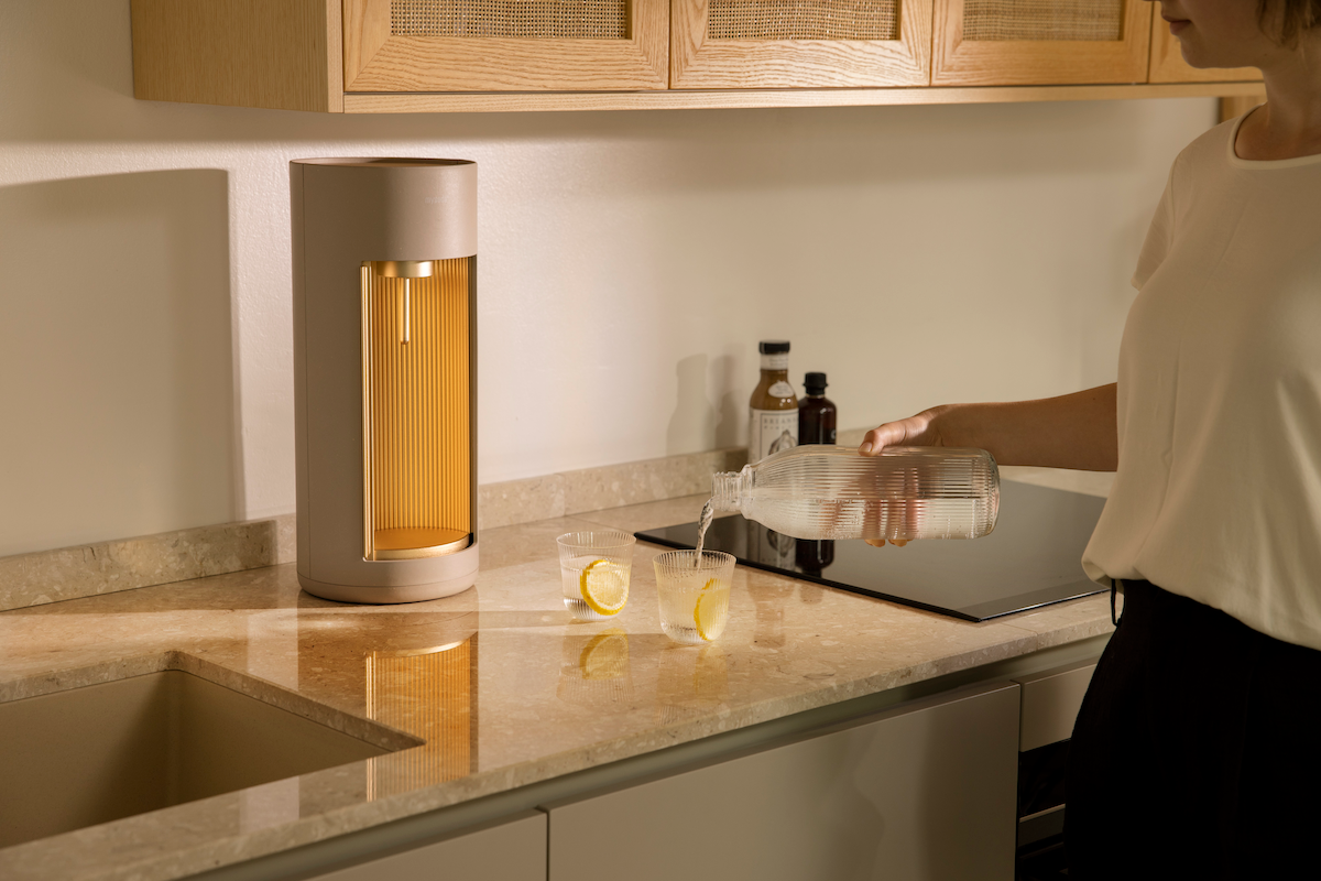
<path fill-rule="evenodd" d="M 133 94 L 320 112 L 1256 95 L 1144 0 L 131 0 Z"/>

